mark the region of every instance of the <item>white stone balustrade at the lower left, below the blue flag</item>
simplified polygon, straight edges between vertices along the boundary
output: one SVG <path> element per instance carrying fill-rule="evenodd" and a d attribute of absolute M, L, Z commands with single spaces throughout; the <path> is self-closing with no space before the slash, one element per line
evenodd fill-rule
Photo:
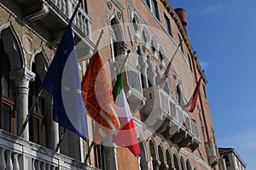
<path fill-rule="evenodd" d="M 0 169 L 98 169 L 3 130 L 0 141 Z"/>

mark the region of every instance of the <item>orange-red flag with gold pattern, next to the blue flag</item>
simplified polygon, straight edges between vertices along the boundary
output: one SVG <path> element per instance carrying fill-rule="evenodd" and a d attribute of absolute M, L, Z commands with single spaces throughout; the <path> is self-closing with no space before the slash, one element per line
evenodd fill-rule
<path fill-rule="evenodd" d="M 108 133 L 119 129 L 120 125 L 112 87 L 98 51 L 90 59 L 82 82 L 82 90 L 86 111 L 95 121 L 94 139 L 96 143 L 100 143 Z"/>

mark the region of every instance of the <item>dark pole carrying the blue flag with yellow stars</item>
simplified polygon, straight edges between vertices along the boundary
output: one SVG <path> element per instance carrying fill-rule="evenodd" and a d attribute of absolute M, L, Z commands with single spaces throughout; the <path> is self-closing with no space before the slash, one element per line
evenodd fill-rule
<path fill-rule="evenodd" d="M 77 12 L 78 12 L 78 10 L 79 10 L 79 6 L 80 6 L 81 3 L 82 3 L 82 0 L 79 0 L 79 3 L 77 4 L 76 8 L 74 9 L 74 12 L 73 12 L 73 14 L 72 14 L 72 16 L 71 16 L 71 18 L 70 18 L 70 21 L 73 22 L 73 19 L 74 19 L 75 15 L 77 14 Z M 69 21 L 69 22 L 70 22 L 70 21 Z M 70 23 L 72 23 L 72 22 L 70 22 Z M 70 24 L 70 23 L 69 23 L 69 24 Z M 31 106 L 31 108 L 30 108 L 28 114 L 26 115 L 26 120 L 25 120 L 25 122 L 24 122 L 24 123 L 22 124 L 22 126 L 21 126 L 21 129 L 20 129 L 20 136 L 22 136 L 22 134 L 24 133 L 24 130 L 25 130 L 25 128 L 26 128 L 26 124 L 27 124 L 27 122 L 29 121 L 30 117 L 32 116 L 32 110 L 33 110 L 34 106 L 37 104 L 38 98 L 40 97 L 42 91 L 43 91 L 43 87 L 41 86 L 41 87 L 39 88 L 39 90 L 38 90 L 38 94 L 37 94 L 37 96 L 36 96 L 36 99 L 33 101 L 32 106 Z"/>

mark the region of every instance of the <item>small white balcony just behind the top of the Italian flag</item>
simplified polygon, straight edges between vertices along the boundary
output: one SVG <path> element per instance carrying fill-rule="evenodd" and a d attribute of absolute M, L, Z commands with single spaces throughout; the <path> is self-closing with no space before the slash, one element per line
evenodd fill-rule
<path fill-rule="evenodd" d="M 113 73 L 114 75 L 119 73 L 123 62 L 123 60 L 118 60 L 113 63 L 114 69 L 112 70 L 115 71 Z M 146 100 L 143 96 L 141 72 L 137 71 L 137 69 L 131 66 L 127 61 L 123 68 L 123 77 L 125 94 L 128 99 L 131 112 L 134 113 L 143 107 Z"/>

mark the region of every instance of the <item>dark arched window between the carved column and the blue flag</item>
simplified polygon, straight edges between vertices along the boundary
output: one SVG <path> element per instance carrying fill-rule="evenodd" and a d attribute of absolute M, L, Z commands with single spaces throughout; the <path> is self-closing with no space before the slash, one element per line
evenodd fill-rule
<path fill-rule="evenodd" d="M 42 83 L 35 63 L 32 64 L 32 72 L 36 73 L 36 77 L 34 82 L 29 82 L 29 108 L 32 107 L 32 103 L 36 99 Z M 29 126 L 30 140 L 37 144 L 46 146 L 46 115 L 44 111 L 44 99 L 42 97 L 38 98 L 38 101 L 32 110 L 32 117 L 30 118 Z"/>

